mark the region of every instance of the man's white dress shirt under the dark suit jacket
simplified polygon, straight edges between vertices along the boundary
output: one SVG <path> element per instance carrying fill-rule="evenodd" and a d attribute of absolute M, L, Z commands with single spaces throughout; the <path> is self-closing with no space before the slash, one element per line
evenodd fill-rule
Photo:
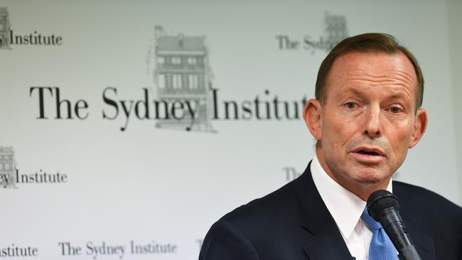
<path fill-rule="evenodd" d="M 372 232 L 361 220 L 366 202 L 336 183 L 322 168 L 316 154 L 310 169 L 314 185 L 331 212 L 350 254 L 357 260 L 367 259 Z M 392 192 L 391 181 L 387 190 Z"/>

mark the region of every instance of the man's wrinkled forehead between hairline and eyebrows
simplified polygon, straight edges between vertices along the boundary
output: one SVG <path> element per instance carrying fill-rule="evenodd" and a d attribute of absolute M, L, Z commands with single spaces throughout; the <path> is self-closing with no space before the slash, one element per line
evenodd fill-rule
<path fill-rule="evenodd" d="M 417 75 L 403 53 L 346 53 L 340 55 L 329 72 L 327 95 L 351 85 L 387 85 L 404 88 L 417 97 Z M 330 92 L 330 94 L 329 94 Z"/>

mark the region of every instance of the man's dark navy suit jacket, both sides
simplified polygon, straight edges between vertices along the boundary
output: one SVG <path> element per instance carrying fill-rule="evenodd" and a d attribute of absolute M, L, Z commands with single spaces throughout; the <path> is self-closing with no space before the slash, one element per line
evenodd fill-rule
<path fill-rule="evenodd" d="M 417 186 L 393 182 L 400 213 L 422 260 L 462 260 L 462 208 Z M 200 260 L 352 259 L 311 177 L 238 207 L 215 222 Z"/>

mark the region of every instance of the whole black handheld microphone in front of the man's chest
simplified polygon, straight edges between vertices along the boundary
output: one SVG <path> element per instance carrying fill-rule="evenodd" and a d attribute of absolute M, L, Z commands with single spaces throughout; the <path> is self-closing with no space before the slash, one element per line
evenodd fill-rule
<path fill-rule="evenodd" d="M 421 260 L 407 232 L 401 216 L 397 197 L 387 190 L 376 190 L 367 199 L 367 212 L 383 229 L 399 252 L 400 260 Z"/>

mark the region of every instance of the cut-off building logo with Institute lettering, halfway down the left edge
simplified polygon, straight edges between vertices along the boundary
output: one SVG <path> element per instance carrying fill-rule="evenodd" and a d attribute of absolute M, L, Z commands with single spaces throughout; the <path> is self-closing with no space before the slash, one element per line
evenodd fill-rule
<path fill-rule="evenodd" d="M 38 170 L 36 173 L 19 173 L 16 166 L 14 149 L 12 146 L 0 146 L 0 188 L 18 188 L 18 184 L 53 184 L 67 183 L 68 175 L 65 173 L 47 173 Z"/>

